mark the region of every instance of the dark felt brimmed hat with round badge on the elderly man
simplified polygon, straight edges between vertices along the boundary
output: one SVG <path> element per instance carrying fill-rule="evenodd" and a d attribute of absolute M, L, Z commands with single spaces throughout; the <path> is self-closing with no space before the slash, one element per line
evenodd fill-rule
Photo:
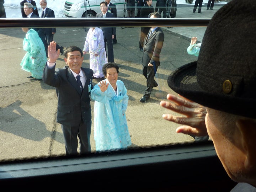
<path fill-rule="evenodd" d="M 232 0 L 207 26 L 196 62 L 173 71 L 169 87 L 216 110 L 256 118 L 256 0 Z"/>

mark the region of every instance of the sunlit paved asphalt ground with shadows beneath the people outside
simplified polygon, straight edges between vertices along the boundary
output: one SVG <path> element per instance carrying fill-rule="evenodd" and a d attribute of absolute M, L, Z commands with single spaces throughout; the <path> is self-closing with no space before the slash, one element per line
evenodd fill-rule
<path fill-rule="evenodd" d="M 221 4 L 223 5 L 223 4 Z M 177 6 L 177 18 L 211 18 L 221 6 L 213 10 L 202 7 L 202 14 L 193 13 L 193 6 Z M 192 62 L 197 57 L 187 54 L 191 37 L 199 41 L 205 27 L 163 28 L 164 46 L 160 55 L 161 66 L 155 76 L 159 86 L 154 88 L 151 98 L 140 103 L 146 86 L 142 75 L 142 52 L 139 50 L 140 28 L 117 28 L 117 44 L 114 47 L 114 62 L 119 64 L 119 80 L 127 87 L 129 102 L 126 112 L 132 146 L 159 145 L 190 142 L 193 138 L 175 133 L 177 124 L 162 119 L 163 113 L 171 113 L 159 104 L 173 91 L 167 85 L 168 75 L 177 67 Z M 83 48 L 84 28 L 57 28 L 54 40 L 64 48 L 76 45 Z M 53 87 L 42 81 L 27 79 L 30 74 L 23 71 L 20 62 L 25 55 L 22 42 L 25 33 L 21 28 L 0 28 L 0 160 L 32 158 L 65 154 L 63 134 L 56 123 L 57 96 Z M 57 67 L 65 66 L 60 56 Z M 84 67 L 89 67 L 89 55 L 84 55 Z M 96 84 L 97 80 L 93 80 Z M 91 145 L 94 142 L 94 101 L 92 105 Z"/>

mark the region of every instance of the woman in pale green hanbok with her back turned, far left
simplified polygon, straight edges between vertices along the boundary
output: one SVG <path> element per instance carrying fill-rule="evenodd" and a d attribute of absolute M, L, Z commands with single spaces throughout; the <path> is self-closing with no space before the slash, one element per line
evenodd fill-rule
<path fill-rule="evenodd" d="M 30 72 L 27 78 L 42 79 L 43 68 L 47 62 L 46 51 L 38 33 L 29 28 L 22 28 L 26 33 L 23 49 L 27 52 L 21 61 L 21 69 Z"/>

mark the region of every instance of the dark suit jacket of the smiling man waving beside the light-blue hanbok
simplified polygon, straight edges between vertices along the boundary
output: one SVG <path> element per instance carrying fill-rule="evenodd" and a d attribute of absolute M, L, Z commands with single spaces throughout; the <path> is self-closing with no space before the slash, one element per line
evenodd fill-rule
<path fill-rule="evenodd" d="M 88 85 L 92 87 L 93 70 L 81 68 L 86 76 L 84 91 L 81 93 L 76 78 L 68 66 L 62 69 L 44 67 L 42 80 L 55 87 L 58 96 L 57 122 L 66 126 L 78 126 L 81 118 L 84 122 L 91 121 L 90 93 Z"/>

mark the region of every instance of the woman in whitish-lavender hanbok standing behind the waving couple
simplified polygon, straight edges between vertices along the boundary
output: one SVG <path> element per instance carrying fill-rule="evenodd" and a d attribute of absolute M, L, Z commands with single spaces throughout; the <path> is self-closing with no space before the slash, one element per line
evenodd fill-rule
<path fill-rule="evenodd" d="M 98 27 L 89 29 L 85 44 L 84 54 L 90 54 L 90 69 L 94 71 L 94 78 L 103 78 L 102 67 L 107 63 L 107 56 L 103 38 L 103 32 Z"/>

